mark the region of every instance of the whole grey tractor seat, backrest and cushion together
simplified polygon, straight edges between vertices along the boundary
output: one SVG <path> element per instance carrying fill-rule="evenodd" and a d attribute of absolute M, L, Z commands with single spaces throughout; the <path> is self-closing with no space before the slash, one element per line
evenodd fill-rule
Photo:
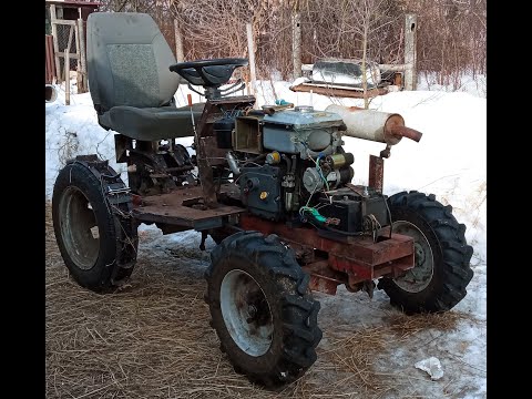
<path fill-rule="evenodd" d="M 194 135 L 190 108 L 175 106 L 174 54 L 152 17 L 93 12 L 86 35 L 89 88 L 102 127 L 141 141 Z M 193 104 L 196 124 L 204 105 Z"/>

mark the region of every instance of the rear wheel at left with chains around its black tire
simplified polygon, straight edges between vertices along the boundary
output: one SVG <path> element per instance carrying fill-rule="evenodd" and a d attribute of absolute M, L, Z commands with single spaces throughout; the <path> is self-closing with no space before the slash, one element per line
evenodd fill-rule
<path fill-rule="evenodd" d="M 102 174 L 114 173 L 105 163 L 91 165 L 103 167 Z M 129 217 L 131 204 L 112 204 L 104 195 L 103 178 L 96 178 L 99 172 L 91 167 L 74 161 L 59 173 L 52 196 L 53 228 L 61 256 L 75 282 L 105 293 L 130 277 L 139 238 L 136 225 Z M 115 182 L 123 185 L 120 177 Z"/>

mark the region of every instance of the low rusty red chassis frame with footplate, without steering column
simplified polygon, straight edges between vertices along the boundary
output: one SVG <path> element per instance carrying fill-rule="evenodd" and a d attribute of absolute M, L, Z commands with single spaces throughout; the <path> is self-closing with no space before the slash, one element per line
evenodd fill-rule
<path fill-rule="evenodd" d="M 382 165 L 382 160 L 378 160 Z M 376 163 L 375 160 L 370 162 Z M 371 167 L 370 173 L 381 175 L 382 167 Z M 374 182 L 376 180 L 378 176 L 372 177 Z M 389 227 L 382 228 L 377 237 L 334 236 L 249 214 L 237 205 L 235 185 L 223 184 L 217 196 L 218 206 L 209 208 L 205 205 L 201 186 L 183 186 L 167 194 L 146 197 L 133 195 L 132 214 L 137 223 L 155 223 L 164 234 L 187 229 L 202 232 L 203 243 L 207 232 L 213 229 L 226 235 L 238 231 L 275 234 L 295 250 L 301 268 L 310 275 L 310 288 L 331 295 L 336 294 L 338 285 L 345 284 L 351 291 L 364 289 L 371 296 L 374 279 L 398 277 L 415 266 L 413 238 L 390 234 Z"/>

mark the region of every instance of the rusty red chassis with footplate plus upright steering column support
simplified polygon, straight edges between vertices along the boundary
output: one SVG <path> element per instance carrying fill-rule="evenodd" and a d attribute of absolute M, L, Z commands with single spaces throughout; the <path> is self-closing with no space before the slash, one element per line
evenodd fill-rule
<path fill-rule="evenodd" d="M 351 291 L 364 289 L 372 296 L 374 279 L 398 277 L 413 268 L 413 238 L 390 234 L 389 227 L 380 229 L 376 237 L 339 236 L 304 225 L 269 222 L 253 216 L 242 206 L 236 185 L 216 186 L 211 166 L 224 160 L 224 152 L 217 149 L 212 123 L 223 115 L 224 109 L 248 110 L 254 102 L 253 96 L 207 100 L 194 137 L 201 184 L 177 186 L 167 193 L 147 196 L 133 195 L 134 218 L 139 223 L 155 223 L 163 234 L 186 229 L 202 232 L 202 249 L 207 234 L 213 231 L 223 232 L 223 236 L 238 231 L 276 234 L 295 250 L 299 265 L 310 275 L 309 287 L 331 295 L 336 294 L 338 285 L 345 284 Z M 368 184 L 380 192 L 383 162 L 389 156 L 390 146 L 387 145 L 380 156 L 369 157 Z M 354 191 L 361 188 L 350 183 L 347 186 Z"/>

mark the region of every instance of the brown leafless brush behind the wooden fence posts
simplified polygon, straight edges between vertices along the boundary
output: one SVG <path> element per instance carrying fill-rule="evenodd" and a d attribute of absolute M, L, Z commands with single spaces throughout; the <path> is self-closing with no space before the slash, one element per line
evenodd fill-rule
<path fill-rule="evenodd" d="M 185 60 L 247 57 L 246 23 L 255 38 L 257 75 L 293 78 L 291 18 L 300 14 L 303 63 L 320 58 L 403 62 L 403 19 L 418 16 L 418 71 L 458 88 L 463 71 L 485 74 L 485 0 L 104 0 L 102 10 L 147 12 Z M 369 27 L 369 29 L 367 29 Z M 366 45 L 365 45 L 365 32 Z"/>

